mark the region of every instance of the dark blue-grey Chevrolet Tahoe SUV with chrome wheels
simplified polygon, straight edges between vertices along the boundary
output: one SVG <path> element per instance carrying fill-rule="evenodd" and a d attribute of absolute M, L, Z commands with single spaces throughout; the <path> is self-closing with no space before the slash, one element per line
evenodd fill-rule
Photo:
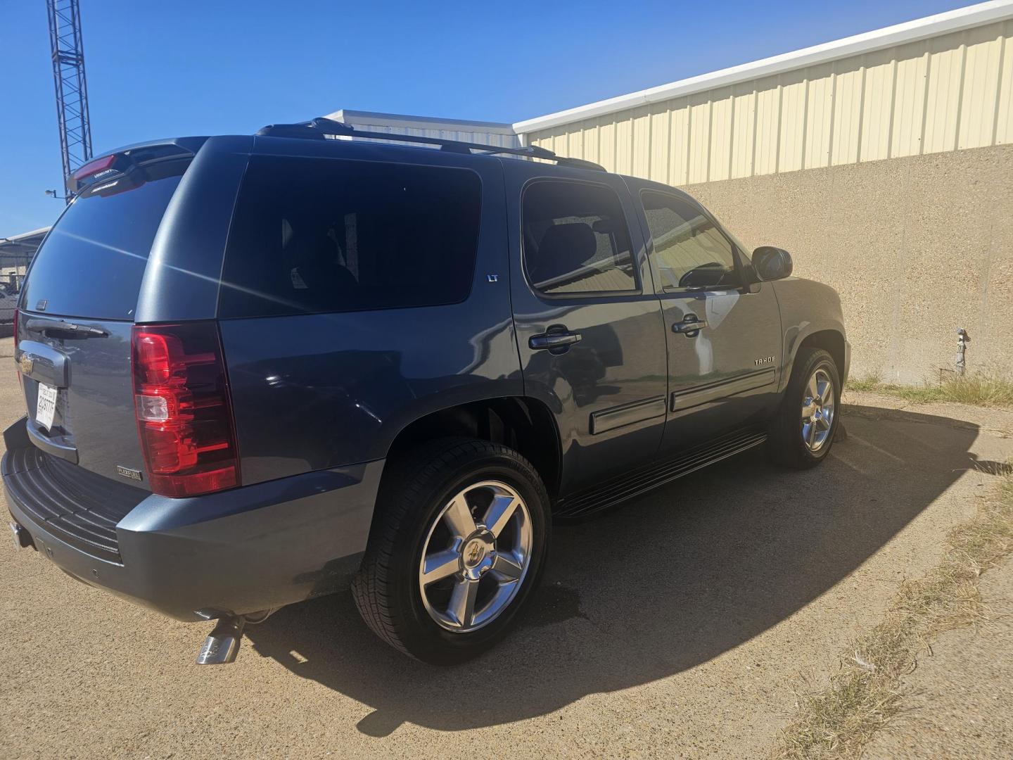
<path fill-rule="evenodd" d="M 15 318 L 11 528 L 218 620 L 201 663 L 349 584 L 393 647 L 466 660 L 553 520 L 762 444 L 813 466 L 841 424 L 837 294 L 657 182 L 323 119 L 74 180 Z"/>

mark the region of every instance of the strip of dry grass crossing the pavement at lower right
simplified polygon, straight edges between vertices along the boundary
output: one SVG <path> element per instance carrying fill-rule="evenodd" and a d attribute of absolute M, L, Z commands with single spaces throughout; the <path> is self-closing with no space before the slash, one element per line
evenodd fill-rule
<path fill-rule="evenodd" d="M 1013 553 L 1013 476 L 977 516 L 951 531 L 942 561 L 905 582 L 883 621 L 842 658 L 825 690 L 800 694 L 776 758 L 852 758 L 902 709 L 902 677 L 940 633 L 984 620 L 978 579 Z"/>

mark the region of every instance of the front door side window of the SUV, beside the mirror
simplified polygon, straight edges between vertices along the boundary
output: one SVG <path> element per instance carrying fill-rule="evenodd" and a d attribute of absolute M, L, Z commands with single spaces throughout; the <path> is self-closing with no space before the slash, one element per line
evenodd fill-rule
<path fill-rule="evenodd" d="M 731 243 L 699 209 L 665 193 L 640 198 L 666 290 L 738 285 Z"/>

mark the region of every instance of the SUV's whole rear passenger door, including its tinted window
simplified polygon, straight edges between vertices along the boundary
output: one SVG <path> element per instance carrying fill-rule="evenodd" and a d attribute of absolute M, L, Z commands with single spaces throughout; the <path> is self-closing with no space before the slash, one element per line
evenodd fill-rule
<path fill-rule="evenodd" d="M 668 386 L 660 305 L 621 178 L 503 164 L 525 393 L 555 414 L 564 495 L 656 454 Z"/>

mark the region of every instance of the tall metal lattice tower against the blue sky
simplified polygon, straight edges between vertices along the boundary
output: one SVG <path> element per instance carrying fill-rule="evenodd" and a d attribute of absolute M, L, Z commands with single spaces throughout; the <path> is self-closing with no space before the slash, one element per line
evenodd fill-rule
<path fill-rule="evenodd" d="M 91 124 L 88 121 L 88 84 L 84 77 L 81 12 L 77 0 L 46 0 L 46 5 L 50 16 L 53 82 L 57 91 L 60 151 L 66 188 L 71 174 L 91 158 Z"/>

